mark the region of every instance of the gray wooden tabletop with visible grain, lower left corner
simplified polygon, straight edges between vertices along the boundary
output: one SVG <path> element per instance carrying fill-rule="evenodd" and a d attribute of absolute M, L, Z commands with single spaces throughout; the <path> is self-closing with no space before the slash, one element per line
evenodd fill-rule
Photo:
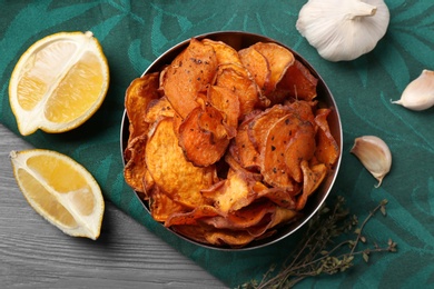
<path fill-rule="evenodd" d="M 97 241 L 49 225 L 13 178 L 9 152 L 29 148 L 0 124 L 0 288 L 224 288 L 108 201 Z"/>

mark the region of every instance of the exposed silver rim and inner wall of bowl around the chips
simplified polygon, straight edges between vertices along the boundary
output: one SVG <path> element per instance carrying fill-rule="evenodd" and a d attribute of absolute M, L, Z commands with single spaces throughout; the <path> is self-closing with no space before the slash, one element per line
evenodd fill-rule
<path fill-rule="evenodd" d="M 217 39 L 219 39 L 221 37 L 237 37 L 237 36 L 248 37 L 251 39 L 260 39 L 260 40 L 256 40 L 256 42 L 259 42 L 259 41 L 274 42 L 274 43 L 277 43 L 279 46 L 283 46 L 284 48 L 288 49 L 292 53 L 294 53 L 295 58 L 298 61 L 300 61 L 310 71 L 310 73 L 314 74 L 318 79 L 318 87 L 320 88 L 320 92 L 322 92 L 322 93 L 318 93 L 318 97 L 326 98 L 325 99 L 326 100 L 325 102 L 327 102 L 326 104 L 328 107 L 333 108 L 331 114 L 334 119 L 335 124 L 337 124 L 337 129 L 336 129 L 336 126 L 331 126 L 331 130 L 332 130 L 332 134 L 335 137 L 336 142 L 339 147 L 339 157 L 338 157 L 335 166 L 333 167 L 333 169 L 328 172 L 328 175 L 326 177 L 326 182 L 323 181 L 323 183 L 314 192 L 314 196 L 317 196 L 318 193 L 316 193 L 316 192 L 319 190 L 319 188 L 327 186 L 327 189 L 326 189 L 325 193 L 323 195 L 323 197 L 320 198 L 320 200 L 315 206 L 313 206 L 312 202 L 310 203 L 307 202 L 306 207 L 314 207 L 314 208 L 312 208 L 308 211 L 306 217 L 300 218 L 302 221 L 296 220 L 295 222 L 289 222 L 289 223 L 284 225 L 283 227 L 292 227 L 292 228 L 286 229 L 286 232 L 279 233 L 279 235 L 277 235 L 277 237 L 276 237 L 276 235 L 272 235 L 270 237 L 267 237 L 267 238 L 264 238 L 260 240 L 254 240 L 250 243 L 246 245 L 245 247 L 240 247 L 240 248 L 217 247 L 217 246 L 201 243 L 201 242 L 191 240 L 191 239 L 174 231 L 172 229 L 165 227 L 161 222 L 155 221 L 155 222 L 159 223 L 159 226 L 161 226 L 162 228 L 165 228 L 166 230 L 171 232 L 172 235 L 175 235 L 175 236 L 177 236 L 177 237 L 179 237 L 179 238 L 181 238 L 181 239 L 184 239 L 193 245 L 196 245 L 196 246 L 199 246 L 203 248 L 219 250 L 219 251 L 247 251 L 247 250 L 264 248 L 264 247 L 270 246 L 273 243 L 276 243 L 285 238 L 288 238 L 289 236 L 292 236 L 296 231 L 298 231 L 302 227 L 304 227 L 305 223 L 307 223 L 312 219 L 312 217 L 319 210 L 319 208 L 323 206 L 325 200 L 328 198 L 328 196 L 334 187 L 334 183 L 336 181 L 339 168 L 341 168 L 342 153 L 343 153 L 343 128 L 342 128 L 341 114 L 338 112 L 336 100 L 335 100 L 332 91 L 329 90 L 328 86 L 326 84 L 324 79 L 319 76 L 319 73 L 316 71 L 316 69 L 303 56 L 300 56 L 298 52 L 296 52 L 290 47 L 284 44 L 275 39 L 272 39 L 269 37 L 258 34 L 258 33 L 238 31 L 238 30 L 214 31 L 214 32 L 194 36 L 194 37 L 187 38 L 187 39 L 178 42 L 177 44 L 170 47 L 169 49 L 167 49 L 164 53 L 161 53 L 159 57 L 157 57 L 145 69 L 145 71 L 142 72 L 141 76 L 145 76 L 145 74 L 150 73 L 150 72 L 159 71 L 162 66 L 170 63 L 170 62 L 162 61 L 162 60 L 166 58 L 174 59 L 174 56 L 176 56 L 177 53 L 179 53 L 183 49 L 185 49 L 187 47 L 187 44 L 189 43 L 191 38 L 196 38 L 196 39 L 217 38 Z M 251 43 L 255 43 L 255 42 L 251 42 Z M 171 57 L 169 57 L 170 54 L 171 54 Z M 159 63 L 159 62 L 161 62 L 161 63 Z M 324 101 L 324 99 L 322 99 L 322 100 Z M 120 124 L 120 152 L 121 152 L 124 168 L 126 166 L 124 152 L 125 152 L 126 143 L 127 143 L 128 136 L 129 136 L 128 126 L 129 126 L 129 120 L 128 120 L 127 111 L 126 111 L 126 109 L 124 109 L 121 124 Z M 146 203 L 146 201 L 140 198 L 140 195 L 137 191 L 135 191 L 132 188 L 131 188 L 131 190 L 134 191 L 135 196 L 138 198 L 140 203 L 144 206 L 145 210 L 150 215 L 150 210 L 149 210 L 149 207 Z M 278 228 L 278 230 L 282 230 L 282 228 Z"/>

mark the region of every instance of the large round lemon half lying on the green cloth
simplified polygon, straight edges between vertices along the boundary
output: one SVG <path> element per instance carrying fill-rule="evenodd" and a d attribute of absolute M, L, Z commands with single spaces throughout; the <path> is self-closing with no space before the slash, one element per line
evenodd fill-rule
<path fill-rule="evenodd" d="M 18 60 L 9 102 L 22 136 L 41 129 L 63 132 L 101 106 L 109 68 L 92 32 L 59 32 L 33 43 Z"/>

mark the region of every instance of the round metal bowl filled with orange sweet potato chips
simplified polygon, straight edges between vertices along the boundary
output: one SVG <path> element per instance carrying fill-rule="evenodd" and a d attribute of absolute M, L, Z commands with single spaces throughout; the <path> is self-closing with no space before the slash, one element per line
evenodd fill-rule
<path fill-rule="evenodd" d="M 199 246 L 245 250 L 295 232 L 331 192 L 342 124 L 324 80 L 267 37 L 213 32 L 170 48 L 126 91 L 126 182 Z"/>

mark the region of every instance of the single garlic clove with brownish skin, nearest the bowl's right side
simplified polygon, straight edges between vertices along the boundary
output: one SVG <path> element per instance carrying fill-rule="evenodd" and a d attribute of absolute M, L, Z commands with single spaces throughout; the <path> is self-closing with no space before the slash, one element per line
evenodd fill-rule
<path fill-rule="evenodd" d="M 388 146 L 378 137 L 364 136 L 355 139 L 351 152 L 378 180 L 378 185 L 375 186 L 378 188 L 392 167 L 392 153 Z"/>

